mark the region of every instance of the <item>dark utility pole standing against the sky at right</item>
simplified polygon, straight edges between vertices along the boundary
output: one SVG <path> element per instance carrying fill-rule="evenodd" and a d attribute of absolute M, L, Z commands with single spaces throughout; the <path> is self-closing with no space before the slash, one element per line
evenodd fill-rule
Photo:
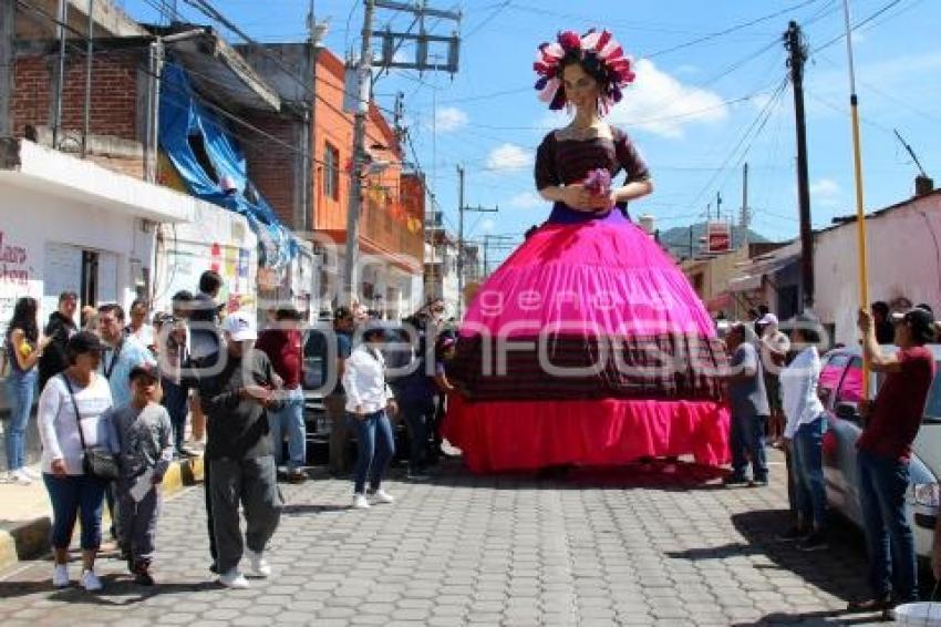
<path fill-rule="evenodd" d="M 797 201 L 800 208 L 800 279 L 804 284 L 804 308 L 814 306 L 814 233 L 810 226 L 810 179 L 807 172 L 807 127 L 804 114 L 804 63 L 807 48 L 800 27 L 792 21 L 784 34 L 790 53 L 790 83 L 794 89 L 794 115 L 797 127 Z"/>

